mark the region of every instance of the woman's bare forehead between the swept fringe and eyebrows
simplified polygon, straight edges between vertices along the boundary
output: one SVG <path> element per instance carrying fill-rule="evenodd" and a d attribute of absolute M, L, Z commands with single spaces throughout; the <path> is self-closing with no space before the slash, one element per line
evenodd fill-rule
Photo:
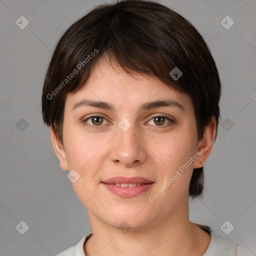
<path fill-rule="evenodd" d="M 169 74 L 167 74 L 169 75 Z M 192 101 L 160 79 L 145 74 L 125 72 L 112 59 L 102 57 L 91 72 L 86 84 L 75 93 L 68 93 L 66 105 L 72 108 L 78 101 L 89 99 L 111 102 L 116 108 L 138 107 L 141 103 L 154 100 L 175 100 L 185 108 L 191 108 Z"/>

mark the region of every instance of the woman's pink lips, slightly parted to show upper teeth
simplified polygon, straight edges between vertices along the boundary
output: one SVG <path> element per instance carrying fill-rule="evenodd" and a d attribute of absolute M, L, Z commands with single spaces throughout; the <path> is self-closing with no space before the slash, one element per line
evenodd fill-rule
<path fill-rule="evenodd" d="M 120 197 L 133 197 L 148 191 L 153 181 L 142 177 L 112 177 L 101 181 L 112 193 Z"/>

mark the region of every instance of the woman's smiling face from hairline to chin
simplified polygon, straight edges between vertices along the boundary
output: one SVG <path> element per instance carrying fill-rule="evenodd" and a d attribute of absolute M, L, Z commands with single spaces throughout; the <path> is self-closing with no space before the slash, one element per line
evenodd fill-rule
<path fill-rule="evenodd" d="M 72 184 L 89 217 L 142 228 L 187 210 L 201 141 L 187 94 L 113 66 L 102 58 L 86 85 L 67 95 L 64 149 L 54 149 L 61 167 L 79 175 Z"/>

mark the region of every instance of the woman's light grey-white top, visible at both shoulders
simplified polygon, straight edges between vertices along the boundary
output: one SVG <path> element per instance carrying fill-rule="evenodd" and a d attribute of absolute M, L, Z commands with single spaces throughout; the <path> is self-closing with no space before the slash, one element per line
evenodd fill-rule
<path fill-rule="evenodd" d="M 209 226 L 197 225 L 211 235 L 209 246 L 203 256 L 246 256 L 245 254 L 242 255 L 239 253 L 239 246 L 237 243 L 215 234 Z M 91 235 L 92 233 L 84 235 L 75 246 L 62 251 L 56 256 L 86 256 L 84 254 L 83 245 Z"/>

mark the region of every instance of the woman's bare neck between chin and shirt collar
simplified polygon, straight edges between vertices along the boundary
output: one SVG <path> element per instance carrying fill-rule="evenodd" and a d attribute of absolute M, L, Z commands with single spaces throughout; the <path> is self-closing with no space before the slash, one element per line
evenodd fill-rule
<path fill-rule="evenodd" d="M 126 232 L 100 221 L 88 211 L 93 235 L 85 243 L 85 255 L 203 255 L 210 235 L 189 221 L 188 206 L 183 209 Z"/>

